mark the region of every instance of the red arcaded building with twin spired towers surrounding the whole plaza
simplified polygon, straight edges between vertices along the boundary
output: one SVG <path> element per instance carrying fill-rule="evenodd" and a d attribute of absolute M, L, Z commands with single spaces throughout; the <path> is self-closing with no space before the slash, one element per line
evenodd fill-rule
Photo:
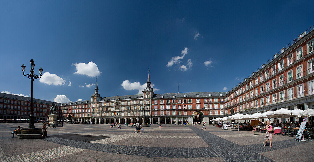
<path fill-rule="evenodd" d="M 61 120 L 99 124 L 173 124 L 210 122 L 211 119 L 238 112 L 252 114 L 280 108 L 313 109 L 313 29 L 314 25 L 228 92 L 154 94 L 148 73 L 143 94 L 101 97 L 96 81 L 91 100 L 59 104 L 59 117 Z M 29 115 L 29 98 L 8 94 L 2 96 L 0 116 L 26 118 Z M 50 105 L 50 101 L 34 100 L 38 119 L 46 119 Z"/>

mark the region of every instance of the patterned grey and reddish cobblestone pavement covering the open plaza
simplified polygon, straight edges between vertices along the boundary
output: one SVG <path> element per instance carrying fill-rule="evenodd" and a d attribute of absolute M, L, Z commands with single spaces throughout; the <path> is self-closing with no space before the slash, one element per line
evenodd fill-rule
<path fill-rule="evenodd" d="M 121 130 L 104 124 L 64 124 L 48 128 L 48 138 L 10 138 L 12 130 L 28 123 L 0 123 L 0 162 L 4 161 L 314 161 L 314 141 L 298 142 L 293 137 L 273 136 L 273 147 L 263 146 L 265 133 L 222 130 L 208 126 L 158 125 Z M 35 123 L 41 127 L 41 123 Z M 86 140 L 69 140 L 58 135 L 84 135 Z M 49 136 L 54 137 L 49 137 Z M 90 137 L 106 136 L 90 141 Z M 90 142 L 84 142 L 90 141 Z M 302 156 L 295 156 L 302 155 Z"/>

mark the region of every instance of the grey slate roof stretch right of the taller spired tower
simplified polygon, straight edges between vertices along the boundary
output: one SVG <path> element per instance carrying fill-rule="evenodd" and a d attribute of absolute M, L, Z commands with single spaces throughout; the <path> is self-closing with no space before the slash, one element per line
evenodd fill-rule
<path fill-rule="evenodd" d="M 154 94 L 154 99 L 161 99 L 161 96 L 164 96 L 164 98 L 173 98 L 172 96 L 175 95 L 175 98 L 199 98 L 199 97 L 209 97 L 209 94 L 211 94 L 211 97 L 224 97 L 227 92 L 184 92 L 184 93 L 165 93 L 165 94 Z M 187 95 L 187 97 L 184 97 L 184 95 Z M 199 97 L 196 97 L 196 95 L 199 95 Z"/>

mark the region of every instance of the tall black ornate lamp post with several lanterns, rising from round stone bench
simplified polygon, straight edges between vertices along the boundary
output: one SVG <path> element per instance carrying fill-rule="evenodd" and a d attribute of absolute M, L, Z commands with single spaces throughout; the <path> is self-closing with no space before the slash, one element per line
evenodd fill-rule
<path fill-rule="evenodd" d="M 33 112 L 33 81 L 35 79 L 38 79 L 38 78 L 41 78 L 41 75 L 42 75 L 42 71 L 43 69 L 40 68 L 39 69 L 39 74 L 40 76 L 34 74 L 34 67 L 35 67 L 35 64 L 34 64 L 34 60 L 30 60 L 30 73 L 28 74 L 24 74 L 25 72 L 25 65 L 23 64 L 22 66 L 22 71 L 23 71 L 23 75 L 27 78 L 30 79 L 31 81 L 31 93 L 30 93 L 30 124 L 28 125 L 28 128 L 35 128 L 35 125 L 34 125 L 34 112 Z"/>

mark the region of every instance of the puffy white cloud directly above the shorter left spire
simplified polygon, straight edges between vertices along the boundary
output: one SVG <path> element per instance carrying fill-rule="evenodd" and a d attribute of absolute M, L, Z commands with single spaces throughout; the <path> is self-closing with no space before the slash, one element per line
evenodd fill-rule
<path fill-rule="evenodd" d="M 72 65 L 75 65 L 77 70 L 74 74 L 82 74 L 88 77 L 96 77 L 99 76 L 101 73 L 94 62 L 89 62 L 88 64 L 80 62 Z"/>

